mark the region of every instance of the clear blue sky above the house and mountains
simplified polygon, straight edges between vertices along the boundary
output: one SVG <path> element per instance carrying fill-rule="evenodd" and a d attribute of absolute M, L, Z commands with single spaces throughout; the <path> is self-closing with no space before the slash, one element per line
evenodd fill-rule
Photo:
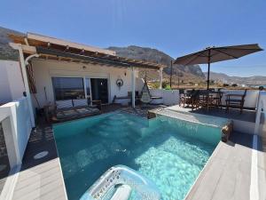
<path fill-rule="evenodd" d="M 0 26 L 99 47 L 147 46 L 176 58 L 213 45 L 265 49 L 265 9 L 265 0 L 2 0 Z M 266 52 L 211 70 L 266 76 Z"/>

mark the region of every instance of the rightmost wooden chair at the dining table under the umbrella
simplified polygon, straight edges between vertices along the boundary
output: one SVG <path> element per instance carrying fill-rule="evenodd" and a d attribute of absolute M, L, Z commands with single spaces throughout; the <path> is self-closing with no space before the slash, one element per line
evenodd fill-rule
<path fill-rule="evenodd" d="M 246 90 L 243 94 L 227 94 L 226 95 L 226 112 L 229 112 L 229 108 L 239 108 L 240 114 L 243 112 L 245 103 Z"/>

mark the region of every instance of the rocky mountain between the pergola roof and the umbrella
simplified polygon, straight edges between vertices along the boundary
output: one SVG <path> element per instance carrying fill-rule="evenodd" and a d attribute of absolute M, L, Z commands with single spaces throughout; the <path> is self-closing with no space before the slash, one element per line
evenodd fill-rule
<path fill-rule="evenodd" d="M 164 78 L 168 78 L 171 73 L 170 63 L 171 61 L 174 62 L 175 59 L 170 57 L 165 52 L 160 52 L 159 50 L 147 48 L 147 47 L 140 47 L 136 45 L 129 45 L 128 47 L 115 47 L 111 46 L 107 48 L 108 50 L 112 50 L 116 52 L 116 55 L 121 57 L 127 57 L 130 59 L 136 59 L 136 60 L 144 60 L 144 61 L 152 61 L 160 64 L 164 64 L 168 66 L 167 68 L 164 68 L 163 72 Z M 141 73 L 143 75 L 143 73 Z M 154 76 L 157 76 L 158 73 L 154 71 L 149 71 L 149 77 L 150 79 L 155 78 Z M 173 80 L 177 80 L 177 76 L 181 76 L 181 79 L 189 79 L 190 81 L 202 81 L 205 76 L 203 72 L 201 71 L 201 68 L 199 65 L 191 65 L 191 66 L 183 66 L 183 65 L 173 65 Z M 152 77 L 151 77 L 152 76 Z"/>

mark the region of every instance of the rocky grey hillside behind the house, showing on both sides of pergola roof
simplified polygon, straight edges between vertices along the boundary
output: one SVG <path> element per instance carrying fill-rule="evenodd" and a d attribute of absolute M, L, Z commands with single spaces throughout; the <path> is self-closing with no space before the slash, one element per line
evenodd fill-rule
<path fill-rule="evenodd" d="M 24 35 L 18 31 L 1 28 L 0 27 L 0 60 L 18 60 L 18 54 L 9 46 L 10 39 L 8 34 Z M 170 62 L 174 61 L 168 54 L 160 52 L 156 49 L 139 47 L 130 45 L 128 47 L 109 47 L 108 49 L 116 52 L 118 56 L 127 57 L 137 60 L 153 61 L 164 64 L 168 68 L 164 68 L 163 77 L 169 78 L 170 75 Z M 144 76 L 144 71 L 140 72 L 140 76 Z M 157 80 L 159 74 L 155 71 L 149 71 L 148 78 L 150 80 Z M 184 82 L 200 82 L 204 80 L 204 74 L 202 73 L 199 65 L 194 66 L 182 66 L 173 65 L 173 81 L 177 81 L 177 76 L 181 77 Z"/>

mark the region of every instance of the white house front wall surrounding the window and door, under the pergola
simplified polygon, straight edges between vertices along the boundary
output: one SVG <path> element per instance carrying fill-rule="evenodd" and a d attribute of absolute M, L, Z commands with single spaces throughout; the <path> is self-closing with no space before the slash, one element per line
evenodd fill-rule
<path fill-rule="evenodd" d="M 73 62 L 64 62 L 58 60 L 33 60 L 33 69 L 35 76 L 35 85 L 37 93 L 35 94 L 41 107 L 47 103 L 54 103 L 54 94 L 51 83 L 52 76 L 73 76 L 73 77 L 100 77 L 108 78 L 109 103 L 113 101 L 113 96 L 127 96 L 131 91 L 131 69 L 112 68 L 92 64 L 82 64 Z M 85 66 L 86 68 L 82 68 Z M 136 71 L 137 76 L 137 71 Z M 119 89 L 116 80 L 121 77 L 123 86 Z M 46 88 L 47 100 L 45 98 L 44 87 Z M 35 99 L 32 98 L 34 106 L 37 107 Z"/>

